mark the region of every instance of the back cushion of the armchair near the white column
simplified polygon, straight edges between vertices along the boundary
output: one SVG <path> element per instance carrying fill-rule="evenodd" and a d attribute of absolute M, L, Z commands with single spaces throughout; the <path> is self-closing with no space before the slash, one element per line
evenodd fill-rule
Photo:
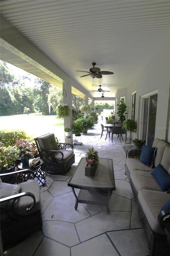
<path fill-rule="evenodd" d="M 55 135 L 53 133 L 41 136 L 38 138 L 40 148 L 46 150 L 58 150 Z"/>

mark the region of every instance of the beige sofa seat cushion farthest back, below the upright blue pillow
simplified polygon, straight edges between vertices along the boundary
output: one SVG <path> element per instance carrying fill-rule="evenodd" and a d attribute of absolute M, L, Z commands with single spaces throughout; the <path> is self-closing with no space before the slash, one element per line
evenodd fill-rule
<path fill-rule="evenodd" d="M 140 160 L 135 159 L 135 158 L 127 158 L 126 166 L 128 167 L 130 172 L 131 172 L 131 170 L 140 170 L 140 171 L 147 171 L 147 172 L 153 171 L 152 168 L 143 164 Z"/>

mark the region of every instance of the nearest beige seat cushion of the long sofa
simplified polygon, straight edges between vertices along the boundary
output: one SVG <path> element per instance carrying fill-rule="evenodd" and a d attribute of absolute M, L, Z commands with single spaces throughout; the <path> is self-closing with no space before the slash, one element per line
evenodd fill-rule
<path fill-rule="evenodd" d="M 165 235 L 159 225 L 158 214 L 162 206 L 170 200 L 170 194 L 142 189 L 138 193 L 138 200 L 152 230 L 157 234 Z"/>

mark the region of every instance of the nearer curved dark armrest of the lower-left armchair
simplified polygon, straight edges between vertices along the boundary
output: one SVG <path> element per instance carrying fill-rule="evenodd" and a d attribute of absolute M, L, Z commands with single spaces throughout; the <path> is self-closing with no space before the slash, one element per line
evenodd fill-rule
<path fill-rule="evenodd" d="M 8 197 L 1 198 L 0 203 L 7 202 L 6 206 L 11 209 L 11 208 L 13 208 L 13 205 L 14 205 L 15 201 L 18 198 L 24 197 L 24 196 L 29 196 L 29 197 L 33 198 L 33 203 L 30 206 L 27 207 L 26 211 L 28 212 L 29 210 L 31 210 L 35 206 L 35 203 L 36 203 L 34 194 L 30 193 L 30 192 L 23 192 L 23 193 L 15 194 L 13 196 L 8 196 Z M 11 201 L 11 200 L 12 200 L 12 203 L 10 204 L 10 206 L 8 206 L 8 202 Z"/>

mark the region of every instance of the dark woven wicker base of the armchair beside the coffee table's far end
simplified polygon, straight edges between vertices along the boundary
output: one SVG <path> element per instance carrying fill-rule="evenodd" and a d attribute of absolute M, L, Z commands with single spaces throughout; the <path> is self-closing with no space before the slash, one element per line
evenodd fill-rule
<path fill-rule="evenodd" d="M 74 164 L 74 162 L 75 155 L 73 155 L 72 158 L 70 158 L 65 164 L 60 162 L 44 162 L 43 168 L 45 168 L 49 174 L 65 174 L 70 170 L 70 167 L 72 164 Z"/>

